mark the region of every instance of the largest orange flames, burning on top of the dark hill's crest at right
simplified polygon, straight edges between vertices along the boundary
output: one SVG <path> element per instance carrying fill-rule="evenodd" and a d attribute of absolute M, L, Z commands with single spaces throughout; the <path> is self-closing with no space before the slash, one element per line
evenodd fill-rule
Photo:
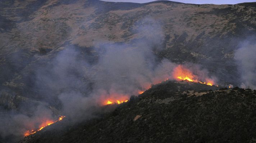
<path fill-rule="evenodd" d="M 173 78 L 176 80 L 187 80 L 188 82 L 195 82 L 195 83 L 201 83 L 212 86 L 214 84 L 214 81 L 206 78 L 206 82 L 200 82 L 198 79 L 198 76 L 193 74 L 192 71 L 185 68 L 182 65 L 178 65 L 173 70 Z"/>

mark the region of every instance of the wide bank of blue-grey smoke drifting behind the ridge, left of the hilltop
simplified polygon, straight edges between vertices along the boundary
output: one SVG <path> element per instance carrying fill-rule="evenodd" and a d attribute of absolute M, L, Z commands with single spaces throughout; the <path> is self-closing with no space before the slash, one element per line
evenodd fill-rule
<path fill-rule="evenodd" d="M 154 54 L 161 50 L 164 39 L 161 24 L 146 18 L 138 21 L 132 31 L 140 38 L 129 43 L 95 43 L 89 53 L 68 45 L 57 51 L 51 62 L 35 69 L 32 90 L 44 95 L 41 98 L 46 102 L 45 106 L 29 107 L 37 109 L 32 115 L 8 113 L 8 116 L 2 116 L 2 123 L 12 125 L 5 124 L 0 128 L 1 136 L 23 137 L 26 130 L 37 129 L 46 118 L 54 120 L 52 111 L 46 108 L 50 105 L 73 122 L 86 120 L 93 117 L 92 113 L 107 99 L 127 100 L 152 84 L 174 79 L 172 72 L 177 64 L 167 59 L 160 61 Z M 96 58 L 91 62 L 88 57 L 93 53 Z M 199 65 L 187 63 L 184 66 L 201 75 L 201 80 L 208 77 L 207 71 Z M 20 117 L 22 121 L 17 120 Z"/>

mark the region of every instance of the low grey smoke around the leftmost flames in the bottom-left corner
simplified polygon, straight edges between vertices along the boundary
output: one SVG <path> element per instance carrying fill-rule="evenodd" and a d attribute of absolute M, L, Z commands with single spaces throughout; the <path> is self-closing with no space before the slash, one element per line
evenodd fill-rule
<path fill-rule="evenodd" d="M 0 113 L 0 137 L 5 142 L 18 142 L 24 137 L 27 129 L 37 129 L 42 121 L 46 122 L 52 119 L 52 112 L 49 108 L 41 105 L 30 108 L 34 108 L 34 112 L 30 113 L 31 115 L 12 111 Z"/>

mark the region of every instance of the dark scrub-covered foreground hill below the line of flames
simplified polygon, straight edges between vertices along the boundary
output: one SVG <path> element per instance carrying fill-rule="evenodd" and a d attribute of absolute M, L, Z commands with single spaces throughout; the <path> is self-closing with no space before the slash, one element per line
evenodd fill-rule
<path fill-rule="evenodd" d="M 66 120 L 22 143 L 255 142 L 256 90 L 215 89 L 168 81 L 101 118 L 63 128 Z"/>

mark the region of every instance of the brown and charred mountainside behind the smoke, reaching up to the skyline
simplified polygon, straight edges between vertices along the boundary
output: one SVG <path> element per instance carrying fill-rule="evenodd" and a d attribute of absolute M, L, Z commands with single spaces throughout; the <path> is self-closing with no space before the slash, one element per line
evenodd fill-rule
<path fill-rule="evenodd" d="M 51 62 L 64 47 L 96 58 L 91 48 L 99 43 L 131 43 L 145 34 L 163 36 L 156 45 L 162 49 L 155 53 L 159 58 L 202 64 L 221 82 L 237 83 L 234 50 L 256 32 L 256 3 L 2 0 L 0 8 L 0 86 L 22 93 L 31 92 L 38 65 Z M 159 29 L 142 33 L 138 28 L 149 24 Z"/>

